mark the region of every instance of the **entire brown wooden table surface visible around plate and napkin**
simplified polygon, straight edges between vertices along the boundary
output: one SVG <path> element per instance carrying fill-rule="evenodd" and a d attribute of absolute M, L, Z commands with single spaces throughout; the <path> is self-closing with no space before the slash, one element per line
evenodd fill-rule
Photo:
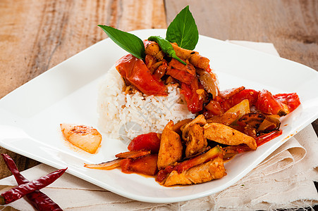
<path fill-rule="evenodd" d="M 0 98 L 105 39 L 97 24 L 125 31 L 166 28 L 186 5 L 200 34 L 271 42 L 281 57 L 318 70 L 316 0 L 2 0 Z M 318 121 L 313 125 L 317 132 Z M 0 152 L 11 155 L 20 171 L 39 164 L 4 148 Z M 0 179 L 9 175 L 0 160 Z"/>

